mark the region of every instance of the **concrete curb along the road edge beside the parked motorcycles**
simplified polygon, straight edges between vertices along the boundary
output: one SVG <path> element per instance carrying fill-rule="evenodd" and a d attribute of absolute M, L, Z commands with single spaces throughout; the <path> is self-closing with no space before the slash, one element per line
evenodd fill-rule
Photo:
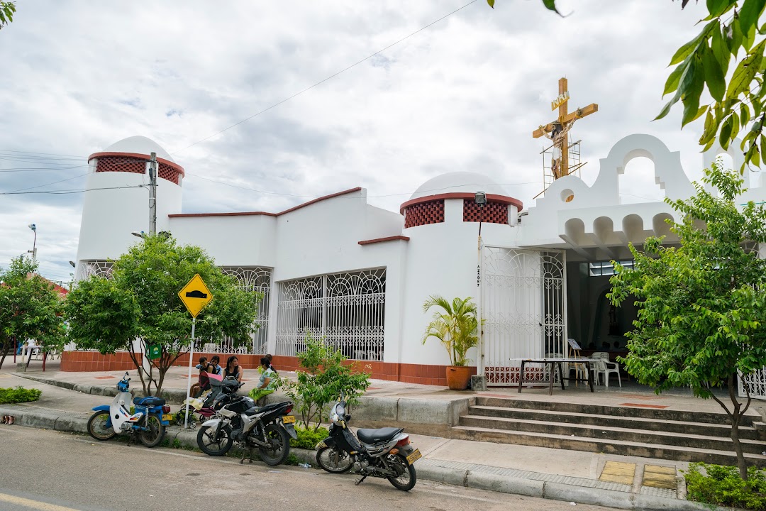
<path fill-rule="evenodd" d="M 61 385 L 58 385 L 61 386 Z M 20 405 L 0 406 L 0 414 L 13 415 L 16 424 L 25 427 L 38 427 L 54 431 L 67 431 L 87 434 L 88 417 L 76 412 L 31 409 Z M 198 430 L 167 430 L 165 439 L 171 444 L 178 440 L 182 447 L 197 447 Z M 307 449 L 290 449 L 301 463 L 316 464 L 315 451 Z M 728 511 L 731 508 L 708 506 L 688 500 L 669 499 L 660 496 L 624 493 L 614 490 L 601 490 L 572 486 L 562 483 L 522 479 L 519 477 L 498 476 L 492 473 L 472 472 L 471 470 L 456 470 L 439 467 L 433 464 L 421 464 L 417 467 L 417 477 L 436 483 L 450 484 L 489 490 L 499 493 L 532 496 L 540 499 L 562 500 L 594 506 L 607 506 L 617 509 L 636 509 L 641 511 Z"/>

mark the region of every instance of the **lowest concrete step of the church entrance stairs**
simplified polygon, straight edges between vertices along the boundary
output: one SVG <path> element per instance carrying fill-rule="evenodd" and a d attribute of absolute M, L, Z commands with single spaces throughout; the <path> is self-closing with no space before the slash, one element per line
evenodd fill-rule
<path fill-rule="evenodd" d="M 584 438 L 565 434 L 511 431 L 491 427 L 454 426 L 452 434 L 463 440 L 520 444 L 556 449 L 584 450 L 622 456 L 640 456 L 661 460 L 702 461 L 708 464 L 736 465 L 737 456 L 731 450 L 710 450 L 700 447 L 646 444 L 640 441 Z M 748 464 L 766 467 L 766 455 L 745 453 Z"/>

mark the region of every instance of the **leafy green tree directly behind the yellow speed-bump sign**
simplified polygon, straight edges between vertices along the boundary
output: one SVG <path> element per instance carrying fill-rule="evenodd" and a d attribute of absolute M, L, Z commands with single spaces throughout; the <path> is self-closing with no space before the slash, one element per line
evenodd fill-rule
<path fill-rule="evenodd" d="M 126 350 L 138 369 L 146 395 L 160 395 L 165 373 L 188 353 L 191 315 L 178 291 L 199 274 L 213 300 L 197 316 L 195 342 L 230 336 L 234 347 L 251 341 L 260 293 L 241 290 L 201 248 L 179 246 L 172 237 L 147 236 L 114 262 L 110 279 L 82 280 L 67 296 L 70 337 L 82 349 L 102 354 Z M 162 346 L 159 359 L 143 364 L 134 343 Z M 152 385 L 154 386 L 152 390 Z"/>

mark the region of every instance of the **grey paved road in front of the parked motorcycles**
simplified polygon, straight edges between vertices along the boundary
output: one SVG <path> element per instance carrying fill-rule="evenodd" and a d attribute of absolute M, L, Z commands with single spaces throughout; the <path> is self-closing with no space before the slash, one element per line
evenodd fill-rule
<path fill-rule="evenodd" d="M 573 509 L 569 503 L 418 481 L 409 493 L 386 480 L 301 467 L 240 465 L 173 449 L 146 449 L 57 431 L 0 425 L 0 509 Z M 417 467 L 417 465 L 416 465 Z M 142 504 L 143 503 L 143 504 Z M 578 505 L 576 509 L 607 509 Z"/>

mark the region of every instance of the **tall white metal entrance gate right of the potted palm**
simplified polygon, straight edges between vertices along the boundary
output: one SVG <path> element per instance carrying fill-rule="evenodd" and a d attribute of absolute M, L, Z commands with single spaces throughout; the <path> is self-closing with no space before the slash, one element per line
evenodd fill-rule
<path fill-rule="evenodd" d="M 519 382 L 511 359 L 565 355 L 566 260 L 562 251 L 484 247 L 481 268 L 483 370 L 487 385 Z M 525 381 L 547 381 L 525 365 Z"/>

